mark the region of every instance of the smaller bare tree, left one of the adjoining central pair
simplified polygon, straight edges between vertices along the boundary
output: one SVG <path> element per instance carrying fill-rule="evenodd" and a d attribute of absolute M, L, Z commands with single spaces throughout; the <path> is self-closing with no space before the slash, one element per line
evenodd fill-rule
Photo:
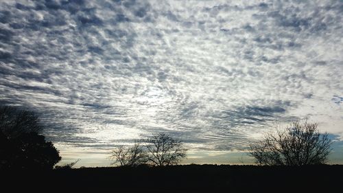
<path fill-rule="evenodd" d="M 139 166 L 147 163 L 147 154 L 143 146 L 135 143 L 130 148 L 119 146 L 111 152 L 110 159 L 113 165 L 119 163 L 120 166 Z"/>

